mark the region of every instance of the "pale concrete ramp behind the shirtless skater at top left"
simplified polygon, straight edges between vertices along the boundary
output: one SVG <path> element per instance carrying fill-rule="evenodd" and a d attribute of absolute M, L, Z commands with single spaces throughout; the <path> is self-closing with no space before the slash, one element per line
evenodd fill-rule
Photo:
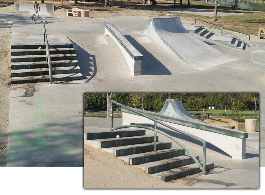
<path fill-rule="evenodd" d="M 35 13 L 34 3 L 14 3 L 15 14 L 28 14 L 33 15 Z M 38 3 L 39 4 L 39 16 L 52 16 L 56 15 L 54 12 L 53 3 Z"/>

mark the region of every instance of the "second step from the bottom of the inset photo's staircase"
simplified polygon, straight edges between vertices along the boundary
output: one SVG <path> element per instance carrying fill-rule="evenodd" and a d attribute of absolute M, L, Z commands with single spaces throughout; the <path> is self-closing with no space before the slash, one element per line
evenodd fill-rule
<path fill-rule="evenodd" d="M 199 161 L 199 156 L 195 156 L 195 158 Z M 195 161 L 191 158 L 191 156 L 183 155 L 170 159 L 163 159 L 160 161 L 139 164 L 136 166 L 145 170 L 147 174 L 154 174 L 193 163 L 195 163 Z"/>

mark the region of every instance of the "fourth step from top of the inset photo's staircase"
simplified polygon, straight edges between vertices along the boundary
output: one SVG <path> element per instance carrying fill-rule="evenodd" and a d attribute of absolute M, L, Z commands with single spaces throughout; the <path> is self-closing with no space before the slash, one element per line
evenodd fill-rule
<path fill-rule="evenodd" d="M 158 161 L 162 159 L 173 158 L 185 155 L 184 149 L 164 149 L 157 152 L 145 152 L 141 154 L 132 154 L 128 156 L 120 156 L 118 158 L 124 160 L 130 165 L 144 164 L 148 162 Z"/>

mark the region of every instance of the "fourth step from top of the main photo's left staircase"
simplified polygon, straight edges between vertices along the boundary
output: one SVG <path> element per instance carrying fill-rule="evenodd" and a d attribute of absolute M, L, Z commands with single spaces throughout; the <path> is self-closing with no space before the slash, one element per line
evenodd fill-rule
<path fill-rule="evenodd" d="M 77 60 L 57 60 L 52 61 L 52 67 L 67 67 L 78 66 Z M 11 69 L 33 69 L 33 68 L 48 68 L 48 62 L 46 61 L 34 61 L 34 62 L 11 62 Z"/>

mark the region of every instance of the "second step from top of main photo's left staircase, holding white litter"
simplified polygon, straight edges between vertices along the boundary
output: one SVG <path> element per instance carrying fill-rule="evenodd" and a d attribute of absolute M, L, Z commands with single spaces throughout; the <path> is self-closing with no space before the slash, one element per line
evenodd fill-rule
<path fill-rule="evenodd" d="M 74 48 L 50 48 L 50 54 L 74 54 Z M 45 49 L 11 49 L 11 56 L 46 55 Z"/>

